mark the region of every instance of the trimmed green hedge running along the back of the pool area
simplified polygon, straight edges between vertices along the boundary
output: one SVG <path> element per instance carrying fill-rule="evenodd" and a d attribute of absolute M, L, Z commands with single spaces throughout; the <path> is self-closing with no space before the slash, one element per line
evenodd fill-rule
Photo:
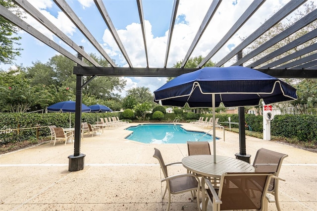
<path fill-rule="evenodd" d="M 75 114 L 70 114 L 71 126 L 75 124 Z M 98 118 L 118 116 L 121 118 L 120 112 L 112 113 L 82 113 L 82 122 L 94 124 Z M 193 113 L 166 113 L 162 121 L 172 122 L 175 118 L 180 118 L 181 121 L 189 120 L 189 118 L 200 116 L 212 117 L 212 114 L 195 115 Z M 229 126 L 223 122 L 231 118 L 231 122 L 238 122 L 238 114 L 216 114 L 219 118 L 219 123 L 222 126 Z M 147 117 L 152 119 L 152 113 Z M 248 125 L 251 126 L 252 131 L 263 132 L 263 116 L 256 116 L 254 114 L 246 114 L 245 119 Z M 195 120 L 195 119 L 191 119 Z M 57 127 L 69 127 L 69 113 L 0 113 L 0 130 L 18 129 L 21 130 L 7 130 L 0 131 L 0 145 L 8 142 L 20 142 L 25 140 L 35 139 L 37 135 L 39 138 L 47 137 L 50 135 L 49 125 L 56 125 Z M 43 126 L 36 134 L 36 129 L 23 129 L 36 126 Z M 232 124 L 231 127 L 238 127 Z M 296 138 L 299 141 L 313 141 L 317 142 L 317 116 L 316 115 L 275 115 L 271 121 L 271 135 L 283 136 L 289 138 Z"/>

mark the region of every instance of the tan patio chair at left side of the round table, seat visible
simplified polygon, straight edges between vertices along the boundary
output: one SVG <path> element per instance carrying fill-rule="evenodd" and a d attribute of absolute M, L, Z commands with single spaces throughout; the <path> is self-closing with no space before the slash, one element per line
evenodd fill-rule
<path fill-rule="evenodd" d="M 164 198 L 166 191 L 168 190 L 168 206 L 166 210 L 169 211 L 170 195 L 200 190 L 200 180 L 194 174 L 178 174 L 174 176 L 168 176 L 167 166 L 176 164 L 176 163 L 181 163 L 181 162 L 174 162 L 174 163 L 169 163 L 165 165 L 160 151 L 156 148 L 154 148 L 154 150 L 155 150 L 155 153 L 153 157 L 159 160 L 160 168 L 162 169 L 162 172 L 165 177 L 164 179 L 161 180 L 161 182 L 166 181 L 165 191 L 164 191 L 162 199 Z M 192 197 L 194 198 L 193 195 Z M 200 210 L 199 196 L 197 197 L 197 205 L 198 205 L 198 209 Z"/>

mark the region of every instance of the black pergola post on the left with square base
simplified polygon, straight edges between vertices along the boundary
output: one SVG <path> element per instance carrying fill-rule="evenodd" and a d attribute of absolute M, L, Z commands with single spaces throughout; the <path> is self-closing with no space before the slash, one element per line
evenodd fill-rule
<path fill-rule="evenodd" d="M 82 48 L 82 47 L 81 47 Z M 78 58 L 83 59 L 82 55 L 78 54 Z M 80 141 L 81 141 L 81 109 L 82 109 L 82 86 L 83 76 L 76 75 L 76 107 L 75 107 L 75 143 L 74 155 L 68 156 L 69 171 L 79 171 L 84 169 L 84 154 L 80 154 Z"/>

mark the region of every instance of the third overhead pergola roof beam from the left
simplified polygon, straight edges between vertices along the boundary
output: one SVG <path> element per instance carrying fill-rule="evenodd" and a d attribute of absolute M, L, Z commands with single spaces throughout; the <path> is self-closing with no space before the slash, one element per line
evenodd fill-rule
<path fill-rule="evenodd" d="M 103 47 L 98 43 L 95 37 L 89 32 L 84 23 L 75 14 L 72 8 L 67 4 L 65 0 L 53 0 L 56 5 L 64 12 L 65 15 L 73 22 L 73 24 L 83 33 L 83 35 L 89 40 L 89 42 L 101 53 L 112 67 L 116 67 L 116 64 L 110 58 L 110 56 L 105 52 Z"/>

